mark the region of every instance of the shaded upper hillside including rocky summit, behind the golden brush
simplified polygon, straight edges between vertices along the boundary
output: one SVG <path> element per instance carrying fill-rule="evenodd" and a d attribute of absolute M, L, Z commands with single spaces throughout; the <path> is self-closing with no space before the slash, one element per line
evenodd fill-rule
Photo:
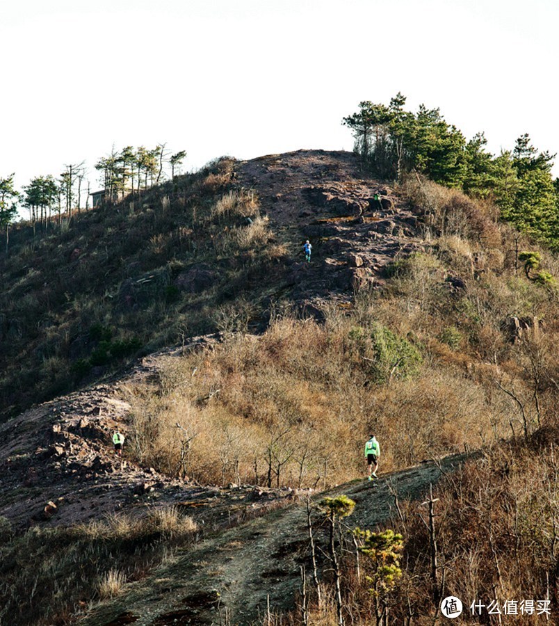
<path fill-rule="evenodd" d="M 331 294 L 348 301 L 416 247 L 415 218 L 395 210 L 389 189 L 382 211 L 373 210 L 379 188 L 359 179 L 350 153 L 222 159 L 76 215 L 62 233 L 55 225 L 36 236 L 14 232 L 0 257 L 1 415 L 219 330 L 233 302 L 237 312 L 245 304 L 238 323 L 258 329 L 280 301 L 298 310 L 316 310 Z M 301 252 L 308 236 L 318 259 L 310 267 Z"/>

